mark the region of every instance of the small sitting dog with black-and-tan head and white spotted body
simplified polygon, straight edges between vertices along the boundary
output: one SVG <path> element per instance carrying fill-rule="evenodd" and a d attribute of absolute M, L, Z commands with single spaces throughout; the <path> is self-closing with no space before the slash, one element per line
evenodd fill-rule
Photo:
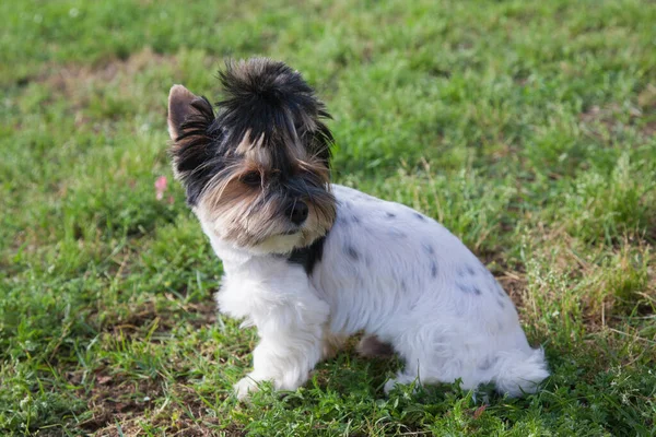
<path fill-rule="evenodd" d="M 330 184 L 329 115 L 298 72 L 255 58 L 220 79 L 215 113 L 171 88 L 168 132 L 175 175 L 223 261 L 219 309 L 258 330 L 239 399 L 266 380 L 295 390 L 359 331 L 361 353 L 405 359 L 386 392 L 458 378 L 536 391 L 543 352 L 477 257 L 432 218 Z"/>

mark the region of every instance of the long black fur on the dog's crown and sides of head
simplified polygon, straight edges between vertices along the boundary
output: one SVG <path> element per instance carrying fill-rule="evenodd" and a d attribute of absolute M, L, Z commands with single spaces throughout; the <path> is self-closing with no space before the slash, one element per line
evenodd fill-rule
<path fill-rule="evenodd" d="M 198 114 L 181 123 L 172 151 L 190 205 L 214 175 L 239 160 L 230 152 L 249 130 L 251 141 L 263 137 L 280 175 L 291 174 L 289 141 L 300 141 L 329 168 L 333 139 L 321 120 L 330 115 L 298 72 L 283 62 L 254 58 L 227 62 L 219 78 L 224 98 L 216 103 L 216 116 L 206 97 L 194 101 Z"/>

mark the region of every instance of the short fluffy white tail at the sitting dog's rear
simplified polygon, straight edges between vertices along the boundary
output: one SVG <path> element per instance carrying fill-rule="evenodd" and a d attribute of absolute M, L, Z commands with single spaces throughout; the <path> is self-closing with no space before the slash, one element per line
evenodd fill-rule
<path fill-rule="evenodd" d="M 549 376 L 541 347 L 503 352 L 499 355 L 495 367 L 496 390 L 513 398 L 535 393 L 538 385 Z"/>

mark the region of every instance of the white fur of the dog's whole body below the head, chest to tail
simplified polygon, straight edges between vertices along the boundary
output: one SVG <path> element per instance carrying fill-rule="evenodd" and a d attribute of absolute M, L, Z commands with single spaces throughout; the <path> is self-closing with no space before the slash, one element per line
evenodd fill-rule
<path fill-rule="evenodd" d="M 511 299 L 444 226 L 399 203 L 333 185 L 337 221 L 308 277 L 284 256 L 232 247 L 197 211 L 225 275 L 220 310 L 258 329 L 254 370 L 235 386 L 302 386 L 313 367 L 358 331 L 391 344 L 406 361 L 395 383 L 494 382 L 532 392 L 549 373 L 528 345 Z"/>

